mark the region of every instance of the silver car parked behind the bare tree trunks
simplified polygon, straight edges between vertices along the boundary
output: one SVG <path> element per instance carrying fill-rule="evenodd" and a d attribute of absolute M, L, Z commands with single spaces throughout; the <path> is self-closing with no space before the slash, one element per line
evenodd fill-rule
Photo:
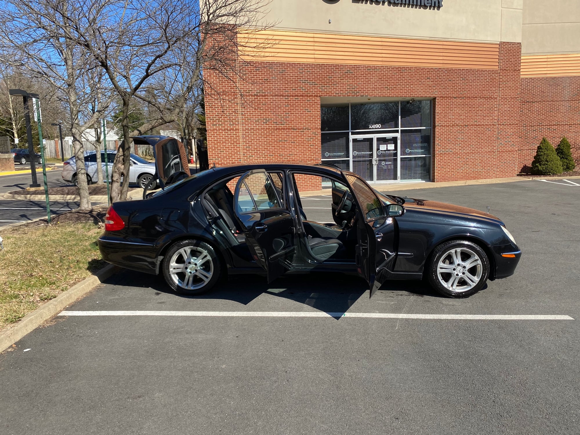
<path fill-rule="evenodd" d="M 113 172 L 113 161 L 115 160 L 115 155 L 117 151 L 108 151 L 108 172 L 109 180 L 111 180 L 111 173 Z M 105 152 L 101 151 L 101 166 L 103 171 L 103 179 L 105 179 Z M 86 170 L 86 181 L 91 184 L 97 181 L 97 155 L 95 151 L 85 151 L 85 170 Z M 137 184 L 139 187 L 145 187 L 145 185 L 153 178 L 155 175 L 155 164 L 144 160 L 138 155 L 131 154 L 131 169 L 129 169 L 129 184 Z M 64 168 L 62 172 L 63 180 L 73 183 L 78 186 L 77 183 L 77 165 L 75 158 L 71 157 L 64 162 Z M 157 181 L 153 182 L 149 189 L 155 189 L 157 187 Z"/>

